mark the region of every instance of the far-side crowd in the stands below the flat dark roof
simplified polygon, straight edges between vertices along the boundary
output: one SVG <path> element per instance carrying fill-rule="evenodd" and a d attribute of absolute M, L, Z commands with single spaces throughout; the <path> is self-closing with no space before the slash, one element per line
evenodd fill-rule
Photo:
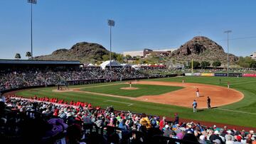
<path fill-rule="evenodd" d="M 112 68 L 111 70 L 102 70 L 100 67 L 80 67 L 64 70 L 49 68 L 1 70 L 0 91 L 5 89 L 15 89 L 18 87 L 58 84 L 59 82 L 73 80 L 106 79 L 107 81 L 110 81 L 137 79 L 142 77 L 150 77 L 150 75 L 131 68 Z"/>

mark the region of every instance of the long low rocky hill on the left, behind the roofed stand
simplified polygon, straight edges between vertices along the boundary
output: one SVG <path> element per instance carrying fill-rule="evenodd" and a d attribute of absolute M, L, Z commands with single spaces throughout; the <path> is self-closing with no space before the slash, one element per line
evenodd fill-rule
<path fill-rule="evenodd" d="M 97 43 L 76 43 L 72 48 L 55 50 L 51 55 L 34 57 L 36 60 L 79 60 L 80 62 L 95 62 L 102 60 L 109 51 Z"/>

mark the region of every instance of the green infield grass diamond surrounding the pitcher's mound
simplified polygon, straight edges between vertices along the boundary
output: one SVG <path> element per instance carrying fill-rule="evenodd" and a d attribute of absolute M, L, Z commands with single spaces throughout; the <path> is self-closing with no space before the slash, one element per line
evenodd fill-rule
<path fill-rule="evenodd" d="M 87 87 L 80 89 L 87 92 L 97 92 L 102 94 L 114 94 L 119 96 L 147 96 L 147 95 L 159 95 L 165 94 L 167 92 L 176 91 L 182 89 L 182 87 L 170 87 L 170 86 L 159 86 L 159 85 L 149 85 L 149 84 L 132 84 L 132 87 L 137 87 L 138 89 L 120 89 L 122 87 L 129 87 L 129 84 L 117 84 L 109 85 L 105 87 Z"/>

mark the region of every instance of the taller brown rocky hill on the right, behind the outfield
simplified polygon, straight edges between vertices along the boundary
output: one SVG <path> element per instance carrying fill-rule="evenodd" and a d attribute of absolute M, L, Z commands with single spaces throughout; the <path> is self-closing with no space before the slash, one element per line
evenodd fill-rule
<path fill-rule="evenodd" d="M 178 50 L 175 50 L 171 57 L 177 61 L 194 60 L 198 62 L 208 61 L 213 62 L 220 60 L 220 62 L 227 62 L 227 53 L 223 48 L 215 43 L 213 40 L 203 36 L 196 36 L 187 43 L 181 45 Z M 238 61 L 238 57 L 230 54 L 230 62 Z"/>

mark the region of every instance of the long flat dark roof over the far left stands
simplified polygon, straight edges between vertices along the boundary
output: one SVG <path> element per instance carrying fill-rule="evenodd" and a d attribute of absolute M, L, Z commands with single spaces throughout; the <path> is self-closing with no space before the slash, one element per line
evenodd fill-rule
<path fill-rule="evenodd" d="M 0 65 L 82 65 L 80 61 L 66 60 L 1 60 Z"/>

